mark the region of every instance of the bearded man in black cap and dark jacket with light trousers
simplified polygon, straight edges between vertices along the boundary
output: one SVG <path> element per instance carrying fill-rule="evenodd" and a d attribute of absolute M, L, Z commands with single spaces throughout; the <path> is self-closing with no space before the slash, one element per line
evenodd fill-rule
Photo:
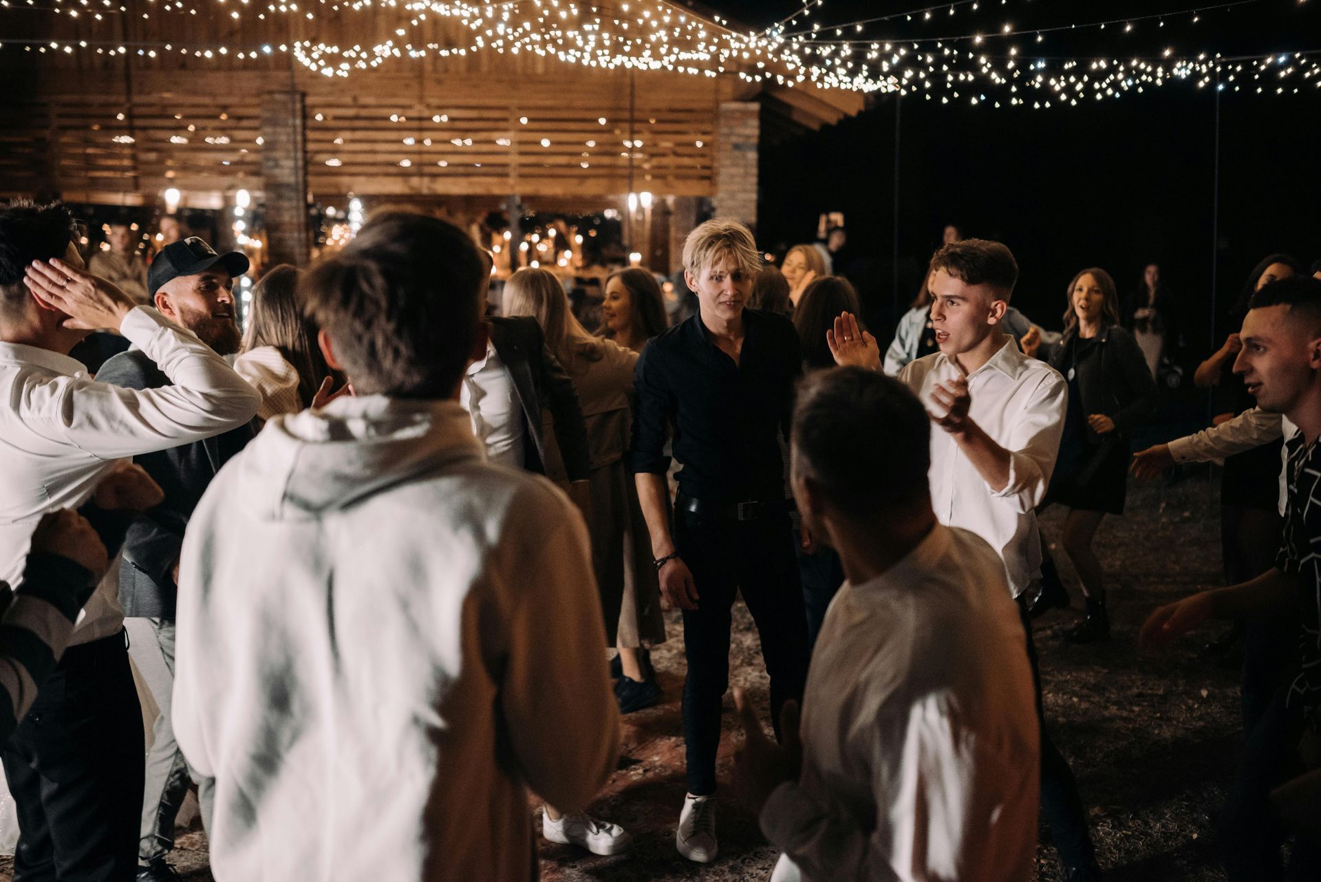
<path fill-rule="evenodd" d="M 242 254 L 215 254 L 192 236 L 165 246 L 152 263 L 149 288 L 156 309 L 197 334 L 217 355 L 239 350 L 234 322 L 234 279 L 248 269 Z M 151 390 L 170 379 L 140 349 L 111 358 L 96 379 L 114 386 Z M 174 817 L 192 775 L 174 742 L 170 693 L 174 687 L 174 598 L 184 529 L 207 485 L 221 466 L 252 440 L 251 423 L 225 434 L 136 458 L 165 490 L 165 502 L 133 522 L 124 540 L 119 570 L 119 602 L 128 619 L 129 654 L 160 706 L 155 739 L 147 755 L 143 797 L 139 879 L 176 879 L 165 862 L 174 846 Z M 210 821 L 211 782 L 197 780 L 202 820 Z"/>

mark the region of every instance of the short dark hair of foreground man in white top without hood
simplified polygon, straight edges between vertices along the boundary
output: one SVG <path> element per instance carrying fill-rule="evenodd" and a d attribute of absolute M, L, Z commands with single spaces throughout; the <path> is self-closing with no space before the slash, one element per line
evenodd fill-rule
<path fill-rule="evenodd" d="M 807 375 L 794 407 L 794 454 L 841 511 L 869 518 L 930 490 L 931 425 L 898 380 L 861 367 Z"/>

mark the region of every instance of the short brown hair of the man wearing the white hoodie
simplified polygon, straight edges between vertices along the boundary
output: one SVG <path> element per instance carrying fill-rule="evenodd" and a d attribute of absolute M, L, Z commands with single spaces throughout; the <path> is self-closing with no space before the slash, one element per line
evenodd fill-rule
<path fill-rule="evenodd" d="M 407 211 L 371 218 L 299 287 L 354 387 L 394 397 L 453 393 L 476 342 L 487 273 L 452 223 Z"/>

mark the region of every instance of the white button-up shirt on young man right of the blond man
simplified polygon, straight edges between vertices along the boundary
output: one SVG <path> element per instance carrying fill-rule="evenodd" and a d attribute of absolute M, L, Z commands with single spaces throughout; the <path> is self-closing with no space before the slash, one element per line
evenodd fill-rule
<path fill-rule="evenodd" d="M 898 379 L 934 413 L 937 383 L 962 376 L 943 353 L 909 362 Z M 1045 362 L 1028 358 L 1012 337 L 967 376 L 970 416 L 1009 452 L 1009 483 L 992 490 L 948 432 L 931 425 L 931 503 L 948 527 L 970 529 L 1004 559 L 1009 590 L 1017 597 L 1040 573 L 1041 539 L 1033 508 L 1046 494 L 1065 430 L 1069 386 Z"/>

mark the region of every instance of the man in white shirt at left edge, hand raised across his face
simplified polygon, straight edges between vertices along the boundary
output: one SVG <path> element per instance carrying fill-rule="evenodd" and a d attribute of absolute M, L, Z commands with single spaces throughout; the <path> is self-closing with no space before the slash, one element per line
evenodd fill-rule
<path fill-rule="evenodd" d="M 63 206 L 0 209 L 0 578 L 21 572 L 41 516 L 75 508 L 116 461 L 218 434 L 258 396 L 210 347 L 82 271 Z M 92 382 L 69 350 L 115 327 L 170 378 L 160 390 Z M 124 646 L 119 562 L 79 614 L 46 693 L 4 747 L 18 809 L 18 878 L 133 877 L 143 795 L 141 710 Z M 49 704 L 53 702 L 53 704 Z"/>

